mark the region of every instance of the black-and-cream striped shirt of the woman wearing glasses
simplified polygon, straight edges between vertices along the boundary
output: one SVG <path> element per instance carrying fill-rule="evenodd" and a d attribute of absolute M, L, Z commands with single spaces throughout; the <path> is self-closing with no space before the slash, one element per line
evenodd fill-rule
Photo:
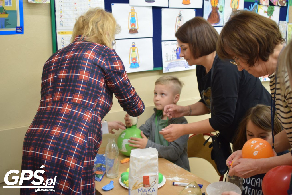
<path fill-rule="evenodd" d="M 275 83 L 275 75 L 276 73 L 273 73 L 269 76 L 271 95 L 272 98 L 274 98 L 276 89 L 276 114 L 283 129 L 287 133 L 290 146 L 292 147 L 292 91 L 290 88 L 289 76 L 286 72 L 284 75 L 284 86 L 281 86 L 279 78 L 277 78 L 277 83 Z"/>

